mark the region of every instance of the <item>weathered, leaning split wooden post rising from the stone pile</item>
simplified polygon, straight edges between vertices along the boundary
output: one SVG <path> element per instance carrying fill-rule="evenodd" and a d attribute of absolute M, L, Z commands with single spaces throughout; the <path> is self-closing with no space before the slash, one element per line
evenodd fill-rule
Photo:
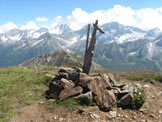
<path fill-rule="evenodd" d="M 91 69 L 91 63 L 92 63 L 93 53 L 94 53 L 95 44 L 96 44 L 96 32 L 97 30 L 99 30 L 101 33 L 104 34 L 104 31 L 98 27 L 98 20 L 96 20 L 93 26 L 94 26 L 94 29 L 92 33 L 91 42 L 89 44 L 90 25 L 88 25 L 86 49 L 85 49 L 85 56 L 84 56 L 84 62 L 83 62 L 83 72 L 86 74 L 89 74 L 89 71 Z"/>

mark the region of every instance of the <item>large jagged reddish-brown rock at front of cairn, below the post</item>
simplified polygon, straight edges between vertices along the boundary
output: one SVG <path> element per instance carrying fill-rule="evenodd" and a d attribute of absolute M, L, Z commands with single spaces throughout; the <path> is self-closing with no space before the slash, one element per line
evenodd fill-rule
<path fill-rule="evenodd" d="M 97 105 L 107 111 L 116 103 L 116 97 L 111 89 L 109 79 L 103 77 L 94 78 L 88 83 L 88 88 L 92 91 Z"/>

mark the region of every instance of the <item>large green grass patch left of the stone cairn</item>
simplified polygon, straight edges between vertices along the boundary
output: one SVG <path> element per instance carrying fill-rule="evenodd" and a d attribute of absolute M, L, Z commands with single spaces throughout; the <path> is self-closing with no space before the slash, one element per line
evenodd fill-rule
<path fill-rule="evenodd" d="M 45 83 L 57 71 L 54 67 L 28 66 L 0 69 L 0 122 L 7 120 L 30 100 L 40 100 L 38 93 L 44 92 Z"/>

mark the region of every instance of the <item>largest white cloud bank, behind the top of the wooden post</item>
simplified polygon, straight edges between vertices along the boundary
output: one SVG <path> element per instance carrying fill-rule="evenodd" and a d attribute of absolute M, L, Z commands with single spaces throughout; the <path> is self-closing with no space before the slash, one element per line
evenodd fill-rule
<path fill-rule="evenodd" d="M 162 8 L 133 10 L 130 7 L 115 5 L 106 11 L 95 11 L 92 13 L 76 8 L 67 19 L 69 26 L 73 30 L 78 30 L 88 23 L 94 23 L 96 19 L 99 20 L 100 25 L 116 21 L 124 25 L 137 26 L 143 29 L 155 27 L 162 29 Z"/>

